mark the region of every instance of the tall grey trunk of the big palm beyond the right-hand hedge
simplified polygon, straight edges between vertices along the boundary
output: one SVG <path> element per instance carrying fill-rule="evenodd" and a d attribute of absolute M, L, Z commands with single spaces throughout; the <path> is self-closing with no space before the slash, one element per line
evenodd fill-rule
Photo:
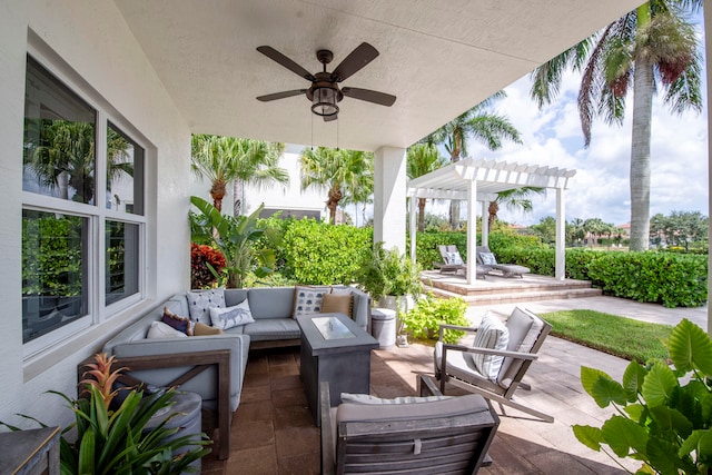
<path fill-rule="evenodd" d="M 653 66 L 635 59 L 633 135 L 631 140 L 631 250 L 646 250 L 650 232 L 650 140 Z"/>

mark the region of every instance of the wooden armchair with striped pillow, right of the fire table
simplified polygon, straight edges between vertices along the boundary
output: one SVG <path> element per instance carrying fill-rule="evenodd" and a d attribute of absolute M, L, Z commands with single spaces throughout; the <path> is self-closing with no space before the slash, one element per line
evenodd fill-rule
<path fill-rule="evenodd" d="M 476 331 L 473 346 L 444 343 L 446 328 Z M 446 384 L 452 384 L 497 402 L 503 414 L 504 404 L 544 422 L 554 422 L 552 416 L 512 400 L 517 388 L 531 389 L 522 378 L 537 359 L 551 328 L 546 320 L 518 307 L 506 326 L 491 314 L 483 317 L 477 328 L 441 325 L 434 350 L 435 378 L 441 382 L 441 392 L 445 394 Z"/>

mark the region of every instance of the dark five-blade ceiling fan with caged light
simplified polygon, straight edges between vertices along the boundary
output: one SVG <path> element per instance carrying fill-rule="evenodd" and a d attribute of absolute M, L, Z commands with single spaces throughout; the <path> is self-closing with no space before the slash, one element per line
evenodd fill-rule
<path fill-rule="evenodd" d="M 332 62 L 334 53 L 326 49 L 318 50 L 316 58 L 324 65 L 324 69 L 314 75 L 273 47 L 257 47 L 257 51 L 312 82 L 309 89 L 294 89 L 259 96 L 257 100 L 263 102 L 306 93 L 307 99 L 312 102 L 312 111 L 317 116 L 324 117 L 325 121 L 329 121 L 337 119 L 338 102 L 344 99 L 344 96 L 387 107 L 393 106 L 396 101 L 395 96 L 385 92 L 349 87 L 339 89 L 338 87 L 339 82 L 358 72 L 378 56 L 378 50 L 367 42 L 363 42 L 356 47 L 332 72 L 327 72 L 326 65 Z"/>

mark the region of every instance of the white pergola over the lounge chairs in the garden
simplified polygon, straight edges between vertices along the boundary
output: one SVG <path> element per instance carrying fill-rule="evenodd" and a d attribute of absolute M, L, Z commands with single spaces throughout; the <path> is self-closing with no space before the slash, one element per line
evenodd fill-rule
<path fill-rule="evenodd" d="M 415 261 L 417 198 L 459 199 L 467 201 L 467 284 L 476 279 L 475 249 L 477 244 L 476 202 L 482 202 L 482 244 L 487 245 L 490 229 L 487 207 L 497 194 L 522 187 L 556 190 L 556 278 L 565 276 L 564 190 L 576 170 L 538 165 L 465 158 L 408 181 L 411 198 L 411 258 Z"/>

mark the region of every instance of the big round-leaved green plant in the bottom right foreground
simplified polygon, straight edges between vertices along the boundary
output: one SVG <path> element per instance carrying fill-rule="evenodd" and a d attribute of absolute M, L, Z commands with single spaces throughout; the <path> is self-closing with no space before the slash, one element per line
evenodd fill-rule
<path fill-rule="evenodd" d="M 616 414 L 602 427 L 574 425 L 576 438 L 615 461 L 642 461 L 640 474 L 709 474 L 712 469 L 712 339 L 688 319 L 666 342 L 673 367 L 632 362 L 622 383 L 581 368 L 581 383 L 600 407 Z M 616 461 L 617 462 L 617 461 Z"/>

